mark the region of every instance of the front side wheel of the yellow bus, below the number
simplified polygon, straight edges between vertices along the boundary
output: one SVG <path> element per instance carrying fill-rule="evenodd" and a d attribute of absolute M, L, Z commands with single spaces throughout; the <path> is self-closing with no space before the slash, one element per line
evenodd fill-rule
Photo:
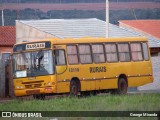
<path fill-rule="evenodd" d="M 70 96 L 77 96 L 78 95 L 78 85 L 76 81 L 71 81 L 70 84 Z"/>

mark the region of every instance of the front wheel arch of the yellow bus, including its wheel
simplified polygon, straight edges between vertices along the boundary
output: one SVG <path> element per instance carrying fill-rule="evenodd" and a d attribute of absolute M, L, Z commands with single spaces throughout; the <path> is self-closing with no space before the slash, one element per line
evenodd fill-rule
<path fill-rule="evenodd" d="M 80 90 L 80 80 L 77 77 L 72 78 L 70 81 L 70 96 L 77 96 Z"/>

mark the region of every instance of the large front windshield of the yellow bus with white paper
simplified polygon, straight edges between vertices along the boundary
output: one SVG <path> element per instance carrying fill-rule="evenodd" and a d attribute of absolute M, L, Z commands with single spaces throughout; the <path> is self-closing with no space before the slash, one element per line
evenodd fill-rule
<path fill-rule="evenodd" d="M 52 50 L 13 54 L 14 78 L 54 74 Z"/>

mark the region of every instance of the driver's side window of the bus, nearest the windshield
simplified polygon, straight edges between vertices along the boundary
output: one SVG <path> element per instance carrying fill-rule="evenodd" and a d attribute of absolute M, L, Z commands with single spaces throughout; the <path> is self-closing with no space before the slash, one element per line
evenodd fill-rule
<path fill-rule="evenodd" d="M 66 65 L 66 58 L 64 50 L 55 50 L 56 65 Z"/>

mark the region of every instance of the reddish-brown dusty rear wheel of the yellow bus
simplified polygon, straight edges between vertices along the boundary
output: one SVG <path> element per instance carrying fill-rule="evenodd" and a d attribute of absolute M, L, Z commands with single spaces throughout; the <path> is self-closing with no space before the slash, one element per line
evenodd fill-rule
<path fill-rule="evenodd" d="M 120 95 L 125 95 L 127 93 L 127 82 L 124 78 L 120 78 L 118 80 L 118 89 L 117 89 L 117 93 Z"/>

